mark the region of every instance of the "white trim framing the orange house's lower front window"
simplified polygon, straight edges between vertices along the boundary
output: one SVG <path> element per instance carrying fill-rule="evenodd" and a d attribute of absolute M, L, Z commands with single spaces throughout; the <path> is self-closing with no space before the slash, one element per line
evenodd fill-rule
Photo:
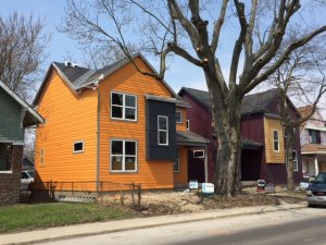
<path fill-rule="evenodd" d="M 122 155 L 113 155 L 112 154 L 112 142 L 123 142 L 123 154 Z M 135 142 L 136 143 L 136 151 L 134 155 L 125 155 L 125 143 L 126 142 Z M 122 156 L 122 170 L 113 170 L 112 169 L 112 157 L 114 156 Z M 135 157 L 135 170 L 126 170 L 126 157 Z M 112 138 L 110 140 L 110 172 L 112 173 L 135 173 L 138 171 L 138 142 L 136 139 L 121 139 L 121 138 Z"/>

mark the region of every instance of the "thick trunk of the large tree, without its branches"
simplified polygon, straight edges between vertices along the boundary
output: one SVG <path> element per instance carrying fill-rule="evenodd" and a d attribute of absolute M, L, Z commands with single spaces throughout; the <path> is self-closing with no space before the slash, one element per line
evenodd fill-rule
<path fill-rule="evenodd" d="M 208 78 L 208 76 L 206 76 Z M 215 193 L 226 197 L 241 193 L 241 99 L 215 96 L 216 82 L 208 81 L 214 131 L 217 135 L 217 158 L 215 162 Z M 213 96 L 214 95 L 214 96 Z"/>

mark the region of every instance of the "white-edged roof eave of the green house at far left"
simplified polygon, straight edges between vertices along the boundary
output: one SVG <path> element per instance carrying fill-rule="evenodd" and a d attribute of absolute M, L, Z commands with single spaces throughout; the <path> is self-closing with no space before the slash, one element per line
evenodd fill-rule
<path fill-rule="evenodd" d="M 0 88 L 2 88 L 11 98 L 13 98 L 25 110 L 24 126 L 32 126 L 38 123 L 45 123 L 45 119 L 37 113 L 25 100 L 23 100 L 16 93 L 0 81 Z"/>

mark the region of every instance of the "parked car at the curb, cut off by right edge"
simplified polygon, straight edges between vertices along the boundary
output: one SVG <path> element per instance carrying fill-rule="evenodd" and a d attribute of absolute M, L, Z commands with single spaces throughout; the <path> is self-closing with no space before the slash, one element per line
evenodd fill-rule
<path fill-rule="evenodd" d="M 306 200 L 309 206 L 326 206 L 326 172 L 319 173 L 306 188 Z"/>

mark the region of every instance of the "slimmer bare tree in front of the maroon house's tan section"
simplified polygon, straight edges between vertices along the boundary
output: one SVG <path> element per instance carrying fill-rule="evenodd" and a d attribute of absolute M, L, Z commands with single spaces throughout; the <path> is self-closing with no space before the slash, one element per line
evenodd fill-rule
<path fill-rule="evenodd" d="M 325 62 L 325 41 L 323 38 L 316 38 L 306 46 L 294 50 L 269 77 L 269 82 L 279 91 L 279 117 L 285 131 L 287 187 L 289 191 L 294 189 L 292 146 L 296 140 L 296 130 L 314 114 L 326 91 Z M 289 97 L 301 106 L 311 105 L 311 111 L 301 118 L 296 117 Z"/>

